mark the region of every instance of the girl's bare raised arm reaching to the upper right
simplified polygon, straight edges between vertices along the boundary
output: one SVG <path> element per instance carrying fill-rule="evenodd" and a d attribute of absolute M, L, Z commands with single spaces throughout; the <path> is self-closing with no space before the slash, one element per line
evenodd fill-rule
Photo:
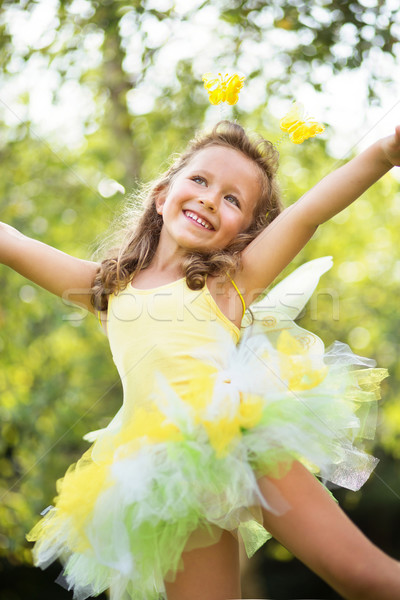
<path fill-rule="evenodd" d="M 318 225 L 349 206 L 394 165 L 400 165 L 400 126 L 284 210 L 243 252 L 243 270 L 235 281 L 246 304 L 289 264 Z"/>

